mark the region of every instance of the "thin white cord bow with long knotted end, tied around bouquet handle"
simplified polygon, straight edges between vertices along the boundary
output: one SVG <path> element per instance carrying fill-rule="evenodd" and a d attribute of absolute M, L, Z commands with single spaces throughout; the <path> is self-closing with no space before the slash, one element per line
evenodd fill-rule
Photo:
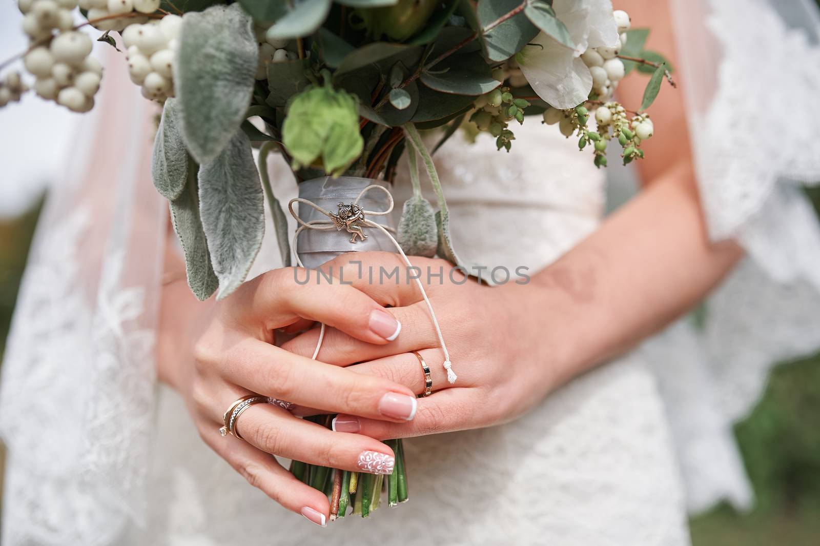
<path fill-rule="evenodd" d="M 389 207 L 387 207 L 386 211 L 362 211 L 362 212 L 364 212 L 365 219 L 363 221 L 360 221 L 360 223 L 363 224 L 363 225 L 366 225 L 367 227 L 376 228 L 376 229 L 380 230 L 383 234 L 385 234 L 388 237 L 388 239 L 390 239 L 390 242 L 394 244 L 396 250 L 399 251 L 399 254 L 401 254 L 401 257 L 404 260 L 404 263 L 408 266 L 408 268 L 412 268 L 412 263 L 410 263 L 410 260 L 408 259 L 407 254 L 404 253 L 404 251 L 402 250 L 401 245 L 394 238 L 394 236 L 392 234 L 390 234 L 389 230 L 387 228 L 385 228 L 384 225 L 378 224 L 378 223 L 376 223 L 374 221 L 371 221 L 371 220 L 367 220 L 367 216 L 385 216 L 385 215 L 388 215 L 390 212 L 393 211 L 394 201 L 393 201 L 393 196 L 390 194 L 390 192 L 386 188 L 384 188 L 380 185 L 371 184 L 371 185 L 367 186 L 367 188 L 362 189 L 361 193 L 358 194 L 358 197 L 356 198 L 355 201 L 353 201 L 353 203 L 358 204 L 359 200 L 364 196 L 364 194 L 367 193 L 368 191 L 371 191 L 372 189 L 378 189 L 378 190 L 383 191 L 384 193 L 387 194 L 387 198 L 389 199 Z M 303 202 L 303 203 L 307 204 L 308 206 L 313 207 L 318 212 L 321 212 L 321 214 L 327 216 L 327 220 L 312 220 L 312 221 L 307 221 L 307 222 L 303 221 L 299 217 L 299 215 L 294 211 L 294 203 L 297 203 L 297 202 Z M 302 260 L 299 259 L 299 254 L 298 254 L 298 249 L 297 249 L 298 248 L 297 244 L 298 244 L 299 234 L 302 233 L 303 230 L 335 230 L 337 228 L 336 228 L 335 222 L 331 220 L 330 211 L 325 210 L 324 208 L 317 205 L 315 202 L 308 201 L 307 199 L 303 199 L 303 198 L 291 199 L 290 202 L 288 203 L 288 210 L 290 211 L 290 215 L 293 216 L 296 219 L 296 221 L 299 223 L 299 226 L 296 229 L 296 233 L 294 234 L 294 253 L 296 254 L 296 265 L 299 266 L 299 267 L 304 267 L 303 264 L 302 264 Z M 453 371 L 453 363 L 450 362 L 450 354 L 447 351 L 447 344 L 444 343 L 444 336 L 441 334 L 441 328 L 439 326 L 439 321 L 435 318 L 435 312 L 433 311 L 433 305 L 430 303 L 430 298 L 427 298 L 427 293 L 424 289 L 424 285 L 421 284 L 421 280 L 419 280 L 418 278 L 416 278 L 414 280 L 416 281 L 418 289 L 421 290 L 421 297 L 424 298 L 424 303 L 427 304 L 427 309 L 430 311 L 430 318 L 433 320 L 433 325 L 435 326 L 435 334 L 439 337 L 439 344 L 441 345 L 441 351 L 444 353 L 444 363 L 442 364 L 442 366 L 444 366 L 444 370 L 447 371 L 447 380 L 450 384 L 453 384 L 453 383 L 456 382 L 456 379 L 457 379 L 458 375 L 456 375 L 456 373 Z M 322 323 L 321 324 L 321 330 L 319 331 L 319 340 L 317 341 L 317 344 L 316 344 L 316 350 L 313 351 L 313 356 L 312 356 L 313 360 L 316 360 L 316 357 L 319 355 L 319 349 L 321 348 L 321 342 L 325 339 L 325 328 L 326 328 L 325 324 Z"/>

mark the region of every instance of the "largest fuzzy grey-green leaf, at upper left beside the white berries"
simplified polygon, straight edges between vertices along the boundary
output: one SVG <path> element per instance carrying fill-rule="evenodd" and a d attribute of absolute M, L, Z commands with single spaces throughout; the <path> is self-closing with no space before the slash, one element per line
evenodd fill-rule
<path fill-rule="evenodd" d="M 238 4 L 186 13 L 174 80 L 189 152 L 211 161 L 244 120 L 253 95 L 258 44 Z"/>

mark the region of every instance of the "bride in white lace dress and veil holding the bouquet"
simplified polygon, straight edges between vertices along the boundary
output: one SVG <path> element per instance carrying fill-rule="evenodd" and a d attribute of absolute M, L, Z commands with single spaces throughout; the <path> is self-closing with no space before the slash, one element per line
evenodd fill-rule
<path fill-rule="evenodd" d="M 504 157 L 483 139 L 440 150 L 459 253 L 529 275 L 490 288 L 411 258 L 455 384 L 415 285 L 368 281 L 399 265 L 389 253 L 343 255 L 324 266 L 336 281 L 305 284 L 275 269 L 271 239 L 252 280 L 198 303 L 148 183 L 148 107 L 125 107 L 112 64 L 93 169 L 49 199 L 3 365 L 3 544 L 672 546 L 689 543 L 687 509 L 748 507 L 731 423 L 771 362 L 820 345 L 820 236 L 783 182 L 820 180 L 820 150 L 756 110 L 813 103 L 798 59 L 820 52 L 775 3 L 617 2 L 650 47 L 686 54 L 670 56 L 682 89 L 652 112 L 643 191 L 606 219 L 604 173 L 537 123 Z M 624 80 L 622 102 L 642 83 Z M 271 166 L 281 195 L 288 173 Z M 636 349 L 733 268 L 703 332 L 678 322 Z M 330 326 L 319 362 L 313 321 Z M 293 406 L 254 404 L 222 435 L 253 393 Z M 312 408 L 339 413 L 333 430 L 294 416 Z M 389 471 L 391 438 L 407 438 L 410 502 L 367 521 L 331 523 L 287 471 Z"/>

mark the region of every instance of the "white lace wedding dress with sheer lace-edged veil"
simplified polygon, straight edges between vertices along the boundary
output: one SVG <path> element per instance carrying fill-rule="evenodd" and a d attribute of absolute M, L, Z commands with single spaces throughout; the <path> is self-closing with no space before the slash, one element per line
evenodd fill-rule
<path fill-rule="evenodd" d="M 719 16 L 722 6 L 737 2 L 704 3 Z M 690 5 L 676 2 L 681 21 Z M 786 58 L 795 48 L 817 57 L 818 48 L 771 19 L 763 0 L 743 6 L 767 22 L 767 43 L 789 48 L 772 57 Z M 738 36 L 756 28 L 723 24 Z M 746 58 L 746 46 L 734 44 L 722 44 L 729 59 L 724 80 L 731 71 L 759 68 Z M 107 132 L 93 152 L 121 157 L 146 138 L 128 130 L 146 112 L 122 107 L 130 96 L 122 89 L 133 89 L 125 71 L 107 71 L 109 89 L 116 89 L 112 81 L 123 87 L 99 107 Z M 818 86 L 804 87 L 809 93 Z M 781 93 L 795 100 L 800 89 Z M 719 134 L 718 122 L 737 96 L 718 93 L 711 114 L 692 107 L 703 114 L 696 121 L 701 135 Z M 718 125 L 704 130 L 705 123 Z M 124 145 L 112 134 L 132 140 Z M 509 155 L 496 154 L 489 141 L 468 146 L 458 138 L 437 154 L 453 239 L 467 262 L 538 269 L 600 221 L 604 179 L 590 158 L 538 123 L 517 134 Z M 751 502 L 731 423 L 754 403 L 772 362 L 820 346 L 820 235 L 795 186 L 778 178 L 820 180 L 818 141 L 798 136 L 789 150 L 799 162 L 782 152 L 761 166 L 754 148 L 710 161 L 710 149 L 722 142 L 717 136 L 704 137 L 712 145 L 696 150 L 710 226 L 718 236 L 740 237 L 758 259 L 715 294 L 704 333 L 673 325 L 508 425 L 408 439 L 410 501 L 328 529 L 248 486 L 198 439 L 180 397 L 154 389 L 150 351 L 166 208 L 148 187 L 147 158 L 130 157 L 80 180 L 67 193 L 72 199 L 57 193 L 44 213 L 3 365 L 2 544 L 688 544 L 687 508 L 721 498 L 740 507 Z M 732 169 L 748 162 L 758 168 Z M 739 179 L 736 172 L 754 176 Z M 274 174 L 276 192 L 288 199 L 294 184 Z M 407 193 L 406 184 L 399 186 L 397 193 Z M 751 204 L 746 186 L 756 190 Z M 736 214 L 736 201 L 745 203 L 744 212 Z M 498 224 L 490 229 L 482 221 L 490 214 L 508 217 L 501 233 Z M 776 229 L 760 228 L 766 218 L 777 220 Z M 278 265 L 272 233 L 269 226 L 253 274 Z M 794 244 L 795 234 L 808 246 Z M 795 248 L 800 252 L 789 254 Z M 771 277 L 782 284 L 772 285 Z"/>

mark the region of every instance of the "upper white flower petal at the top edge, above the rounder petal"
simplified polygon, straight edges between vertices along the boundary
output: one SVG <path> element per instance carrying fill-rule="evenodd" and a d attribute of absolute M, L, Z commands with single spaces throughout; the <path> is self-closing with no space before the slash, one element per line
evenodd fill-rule
<path fill-rule="evenodd" d="M 553 9 L 575 42 L 576 57 L 587 48 L 611 48 L 617 42 L 611 0 L 554 0 Z"/>

